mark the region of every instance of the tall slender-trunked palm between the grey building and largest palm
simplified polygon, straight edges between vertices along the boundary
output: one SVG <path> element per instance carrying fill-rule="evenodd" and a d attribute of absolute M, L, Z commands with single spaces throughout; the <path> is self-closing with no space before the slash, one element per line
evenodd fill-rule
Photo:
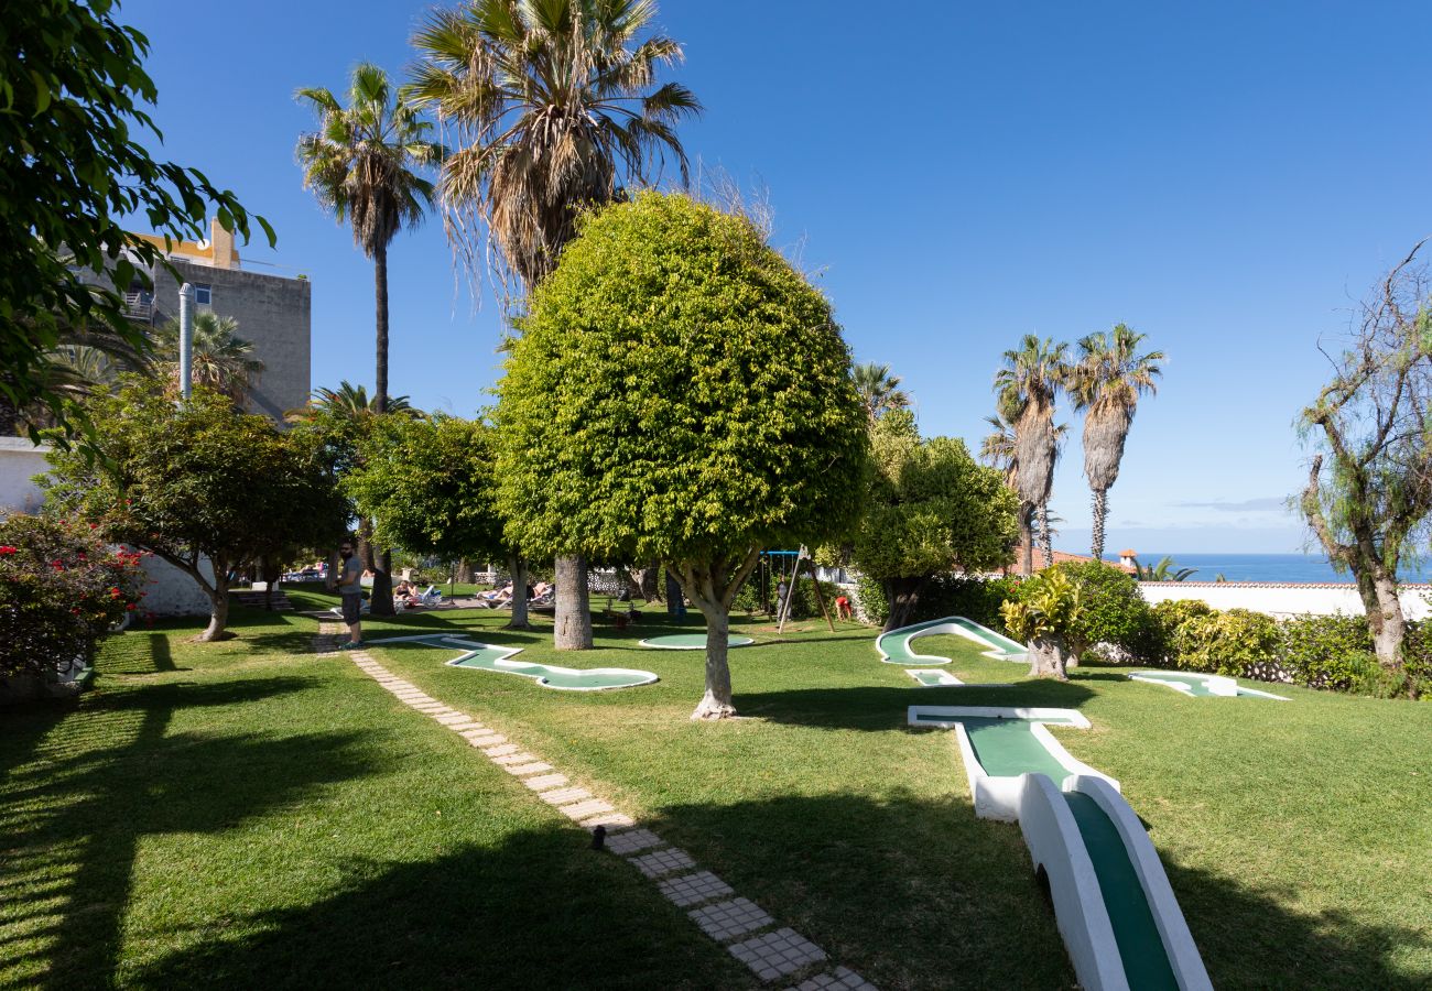
<path fill-rule="evenodd" d="M 388 407 L 388 245 L 404 228 L 422 221 L 432 205 L 432 183 L 418 172 L 442 160 L 442 146 L 428 140 L 432 125 L 404 100 L 395 100 L 388 74 L 358 64 L 342 106 L 322 87 L 296 97 L 314 107 L 318 130 L 298 139 L 304 186 L 339 222 L 352 226 L 354 243 L 372 259 L 377 294 L 378 361 L 374 404 Z M 374 569 L 372 611 L 392 613 L 392 557 L 384 550 Z"/>

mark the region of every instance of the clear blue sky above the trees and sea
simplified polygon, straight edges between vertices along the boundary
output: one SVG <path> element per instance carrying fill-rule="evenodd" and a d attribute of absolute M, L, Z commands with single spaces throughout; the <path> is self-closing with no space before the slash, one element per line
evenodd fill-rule
<path fill-rule="evenodd" d="M 372 268 L 301 188 L 299 86 L 401 74 L 428 4 L 129 0 L 165 153 L 266 215 L 246 262 L 314 282 L 314 385 L 372 381 Z M 872 16 L 876 11 L 884 16 Z M 666 0 L 676 77 L 706 105 L 693 160 L 769 190 L 779 246 L 858 361 L 889 364 L 927 434 L 978 444 L 1022 334 L 1123 321 L 1169 354 L 1110 493 L 1110 550 L 1292 551 L 1297 411 L 1378 275 L 1432 233 L 1415 3 Z M 391 388 L 470 415 L 497 377 L 434 218 L 391 251 Z M 259 271 L 265 271 L 259 268 Z M 1058 541 L 1087 547 L 1080 422 Z"/>

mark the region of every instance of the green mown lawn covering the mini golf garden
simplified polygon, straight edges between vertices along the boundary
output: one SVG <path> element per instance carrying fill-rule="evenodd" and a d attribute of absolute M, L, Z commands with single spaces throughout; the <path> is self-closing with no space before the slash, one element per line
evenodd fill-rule
<path fill-rule="evenodd" d="M 292 593 L 306 604 L 331 600 Z M 654 885 L 460 738 L 401 707 L 315 624 L 238 610 L 241 639 L 112 640 L 76 707 L 6 713 L 0 982 L 129 987 L 752 987 Z M 447 667 L 391 670 L 650 819 L 782 924 L 884 988 L 1071 987 L 1015 826 L 975 819 L 952 735 L 912 703 L 1063 705 L 1055 729 L 1151 829 L 1217 987 L 1432 982 L 1432 706 L 1287 689 L 1186 699 L 1107 667 L 1068 685 L 922 689 L 874 632 L 800 623 L 732 652 L 743 719 L 693 725 L 699 652 L 643 650 L 650 616 L 558 654 L 546 617 L 365 623 L 463 630 L 520 660 L 639 667 L 563 693 Z M 684 629 L 693 629 L 692 623 Z M 967 682 L 1022 667 L 948 653 Z M 974 696 L 974 697 L 972 697 Z M 262 974 L 263 980 L 256 981 Z"/>

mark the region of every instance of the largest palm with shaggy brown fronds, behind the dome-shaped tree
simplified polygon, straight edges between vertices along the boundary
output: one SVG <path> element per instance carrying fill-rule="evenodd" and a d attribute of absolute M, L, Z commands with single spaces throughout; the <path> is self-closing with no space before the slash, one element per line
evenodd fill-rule
<path fill-rule="evenodd" d="M 687 178 L 676 125 L 700 110 L 677 83 L 656 83 L 682 47 L 639 40 L 653 0 L 471 0 L 434 13 L 412 43 L 404 89 L 430 107 L 457 150 L 442 163 L 448 238 L 465 262 L 497 261 L 530 291 L 557 265 L 583 209 L 660 172 Z M 484 231 L 491 252 L 477 249 Z M 591 646 L 586 561 L 557 559 L 558 649 Z"/>

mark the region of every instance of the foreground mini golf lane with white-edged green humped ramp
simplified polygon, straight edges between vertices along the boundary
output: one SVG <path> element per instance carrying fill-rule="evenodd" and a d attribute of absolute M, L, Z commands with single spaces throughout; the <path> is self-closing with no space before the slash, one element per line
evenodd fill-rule
<path fill-rule="evenodd" d="M 1045 729 L 1087 729 L 1088 719 L 1073 709 L 911 706 L 908 722 L 955 729 L 975 815 L 1020 823 L 1083 987 L 1211 991 L 1118 782 L 1075 760 Z"/>

